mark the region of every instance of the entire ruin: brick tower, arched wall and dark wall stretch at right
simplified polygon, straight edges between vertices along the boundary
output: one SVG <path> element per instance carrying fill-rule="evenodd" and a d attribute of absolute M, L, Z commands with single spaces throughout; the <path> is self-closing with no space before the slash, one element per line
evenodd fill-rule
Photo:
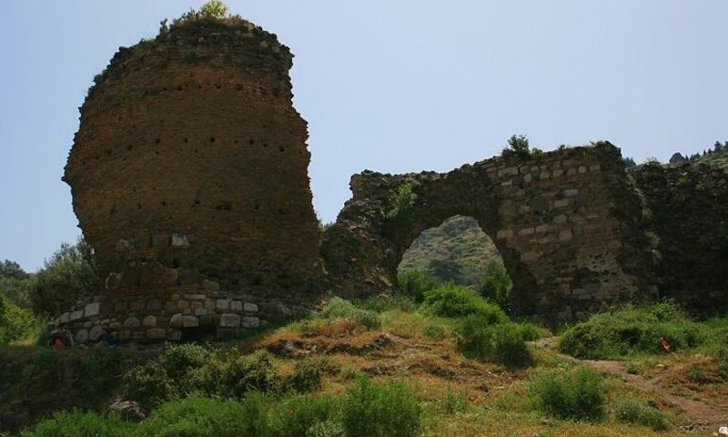
<path fill-rule="evenodd" d="M 59 327 L 82 342 L 105 330 L 122 341 L 238 335 L 327 292 L 389 292 L 411 242 L 455 215 L 493 239 L 519 314 L 579 319 L 658 290 L 728 306 L 726 174 L 625 172 L 608 142 L 444 174 L 365 171 L 322 236 L 291 60 L 238 18 L 183 21 L 119 49 L 81 107 L 64 177 L 104 290 Z M 392 214 L 401 188 L 412 201 Z"/>

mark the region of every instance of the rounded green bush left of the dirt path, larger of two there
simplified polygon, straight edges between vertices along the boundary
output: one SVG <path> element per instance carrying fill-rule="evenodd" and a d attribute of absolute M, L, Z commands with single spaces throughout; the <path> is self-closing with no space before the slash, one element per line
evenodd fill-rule
<path fill-rule="evenodd" d="M 559 419 L 597 421 L 604 415 L 602 375 L 587 368 L 550 373 L 533 389 L 541 411 Z"/>

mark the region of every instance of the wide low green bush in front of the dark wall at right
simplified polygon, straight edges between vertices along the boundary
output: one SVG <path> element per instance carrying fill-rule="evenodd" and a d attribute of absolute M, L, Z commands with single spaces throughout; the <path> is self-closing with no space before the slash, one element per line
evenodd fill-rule
<path fill-rule="evenodd" d="M 633 353 L 663 354 L 662 337 L 677 351 L 702 344 L 705 336 L 703 327 L 682 312 L 658 304 L 595 314 L 566 330 L 560 349 L 579 358 L 620 359 Z"/>

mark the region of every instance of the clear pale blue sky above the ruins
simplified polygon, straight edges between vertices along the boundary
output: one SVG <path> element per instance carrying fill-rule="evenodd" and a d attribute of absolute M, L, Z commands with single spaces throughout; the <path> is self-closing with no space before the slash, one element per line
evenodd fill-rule
<path fill-rule="evenodd" d="M 78 110 L 118 46 L 202 0 L 3 0 L 0 260 L 79 234 L 61 182 Z M 728 139 L 725 0 L 228 0 L 291 47 L 324 221 L 349 177 L 445 171 L 514 133 L 666 160 Z"/>

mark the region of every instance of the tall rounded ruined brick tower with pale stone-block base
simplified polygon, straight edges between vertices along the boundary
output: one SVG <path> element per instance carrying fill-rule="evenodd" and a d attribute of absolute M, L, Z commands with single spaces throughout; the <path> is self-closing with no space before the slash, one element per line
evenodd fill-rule
<path fill-rule="evenodd" d="M 96 76 L 64 179 L 106 284 L 76 328 L 98 311 L 106 323 L 92 325 L 122 340 L 175 339 L 255 326 L 315 294 L 319 225 L 292 57 L 245 20 L 191 15 L 120 48 Z"/>

